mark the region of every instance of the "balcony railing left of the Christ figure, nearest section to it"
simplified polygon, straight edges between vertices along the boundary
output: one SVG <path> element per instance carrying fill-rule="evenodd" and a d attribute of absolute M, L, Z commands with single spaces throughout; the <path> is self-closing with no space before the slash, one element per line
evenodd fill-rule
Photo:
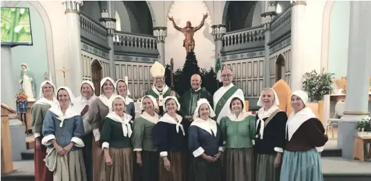
<path fill-rule="evenodd" d="M 113 34 L 113 43 L 123 47 L 138 47 L 157 50 L 156 37 L 146 34 L 115 31 L 115 34 Z"/>

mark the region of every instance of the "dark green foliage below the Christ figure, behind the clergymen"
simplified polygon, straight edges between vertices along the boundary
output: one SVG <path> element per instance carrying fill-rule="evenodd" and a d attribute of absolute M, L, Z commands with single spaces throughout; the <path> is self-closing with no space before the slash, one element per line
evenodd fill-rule
<path fill-rule="evenodd" d="M 170 65 L 167 65 L 165 70 L 165 82 L 168 86 L 171 85 L 170 74 Z M 218 90 L 218 87 L 220 87 L 220 84 L 216 79 L 216 72 L 213 68 L 211 67 L 211 70 L 209 71 L 200 69 L 196 59 L 196 54 L 190 52 L 186 56 L 182 70 L 178 69 L 174 72 L 174 89 L 180 96 L 191 89 L 191 76 L 193 74 L 199 74 L 201 76 L 201 86 L 205 87 L 210 94 L 214 94 L 216 90 Z"/>

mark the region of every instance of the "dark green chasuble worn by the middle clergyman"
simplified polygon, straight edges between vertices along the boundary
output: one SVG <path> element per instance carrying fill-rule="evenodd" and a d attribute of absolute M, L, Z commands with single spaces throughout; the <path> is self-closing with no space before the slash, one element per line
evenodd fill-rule
<path fill-rule="evenodd" d="M 180 103 L 180 115 L 182 116 L 193 116 L 195 109 L 197 107 L 197 101 L 200 98 L 206 98 L 210 105 L 213 105 L 213 96 L 207 92 L 207 90 L 202 87 L 198 91 L 194 89 L 189 89 L 189 91 L 184 92 L 179 100 Z"/>

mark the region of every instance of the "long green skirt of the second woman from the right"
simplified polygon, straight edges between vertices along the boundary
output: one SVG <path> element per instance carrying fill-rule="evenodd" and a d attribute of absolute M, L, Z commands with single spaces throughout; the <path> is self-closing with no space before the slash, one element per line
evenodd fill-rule
<path fill-rule="evenodd" d="M 274 167 L 276 154 L 258 154 L 256 158 L 256 181 L 280 181 L 280 167 Z"/>

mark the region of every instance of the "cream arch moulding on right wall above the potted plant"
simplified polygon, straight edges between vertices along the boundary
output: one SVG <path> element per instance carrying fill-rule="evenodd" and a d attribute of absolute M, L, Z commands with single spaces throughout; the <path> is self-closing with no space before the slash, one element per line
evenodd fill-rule
<path fill-rule="evenodd" d="M 332 6 L 334 6 L 335 1 L 327 1 L 325 3 L 325 8 L 323 10 L 322 19 L 322 48 L 321 48 L 321 70 L 324 69 L 325 72 L 328 70 L 328 53 L 330 45 L 330 18 Z"/>

